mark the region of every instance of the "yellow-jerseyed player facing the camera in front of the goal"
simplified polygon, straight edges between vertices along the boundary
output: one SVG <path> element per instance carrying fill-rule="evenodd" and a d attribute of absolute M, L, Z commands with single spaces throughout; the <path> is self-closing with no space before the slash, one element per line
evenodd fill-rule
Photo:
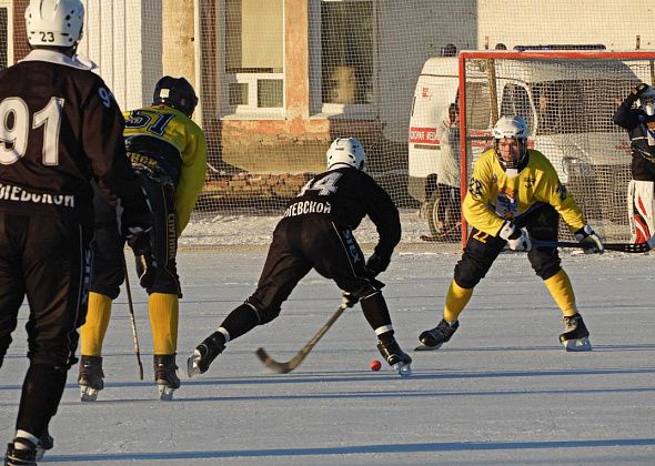
<path fill-rule="evenodd" d="M 556 241 L 560 215 L 590 250 L 603 251 L 603 240 L 586 224 L 575 200 L 560 183 L 555 169 L 538 151 L 527 149 L 527 125 L 521 116 L 503 116 L 493 129 L 494 148 L 476 161 L 462 211 L 472 226 L 462 259 L 446 295 L 443 320 L 423 332 L 416 350 L 436 350 L 451 340 L 473 288 L 508 245 L 527 251 L 535 273 L 544 281 L 564 314 L 560 342 L 566 351 L 590 351 L 588 331 L 577 312 L 568 275 L 557 250 L 532 247 L 531 237 Z"/>

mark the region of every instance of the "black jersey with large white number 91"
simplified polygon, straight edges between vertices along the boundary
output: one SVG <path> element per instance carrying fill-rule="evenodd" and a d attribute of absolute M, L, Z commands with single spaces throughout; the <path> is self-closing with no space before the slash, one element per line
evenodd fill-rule
<path fill-rule="evenodd" d="M 0 72 L 0 211 L 88 219 L 92 178 L 121 199 L 139 196 L 123 116 L 90 68 L 33 50 Z"/>

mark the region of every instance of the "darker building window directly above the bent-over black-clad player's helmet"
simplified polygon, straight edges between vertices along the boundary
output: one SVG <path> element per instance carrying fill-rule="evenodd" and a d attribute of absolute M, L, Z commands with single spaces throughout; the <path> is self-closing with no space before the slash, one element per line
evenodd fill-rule
<path fill-rule="evenodd" d="M 370 113 L 376 101 L 375 2 L 321 0 L 311 16 L 312 108 Z"/>

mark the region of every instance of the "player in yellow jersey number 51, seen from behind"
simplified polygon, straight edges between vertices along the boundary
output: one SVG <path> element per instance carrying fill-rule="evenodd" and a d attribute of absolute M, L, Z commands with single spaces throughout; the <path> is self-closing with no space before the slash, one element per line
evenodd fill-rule
<path fill-rule="evenodd" d="M 178 237 L 189 223 L 206 170 L 205 136 L 191 120 L 196 104 L 195 92 L 185 79 L 163 77 L 151 107 L 124 113 L 125 149 L 153 215 L 150 239 L 130 246 L 140 283 L 149 294 L 154 379 L 162 399 L 171 399 L 180 387 L 175 372 L 178 298 L 182 296 L 175 265 Z M 111 302 L 124 280 L 124 242 L 114 210 L 95 196 L 91 293 L 87 323 L 81 327 L 78 383 L 82 401 L 94 401 L 103 388 L 102 341 Z"/>

